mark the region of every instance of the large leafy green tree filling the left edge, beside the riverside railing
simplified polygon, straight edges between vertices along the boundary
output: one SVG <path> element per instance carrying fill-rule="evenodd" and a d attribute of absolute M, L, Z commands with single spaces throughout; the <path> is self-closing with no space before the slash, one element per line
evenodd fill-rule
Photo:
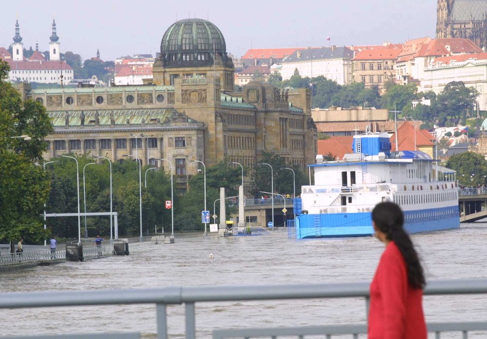
<path fill-rule="evenodd" d="M 43 138 L 52 126 L 42 105 L 22 102 L 6 81 L 8 71 L 8 64 L 0 60 L 0 239 L 12 243 L 23 237 L 35 242 L 46 235 L 41 214 L 49 178 L 34 162 L 42 160 Z"/>

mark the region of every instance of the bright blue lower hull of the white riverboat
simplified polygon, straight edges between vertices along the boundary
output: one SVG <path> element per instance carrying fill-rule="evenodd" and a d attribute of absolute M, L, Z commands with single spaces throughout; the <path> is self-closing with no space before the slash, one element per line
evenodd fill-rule
<path fill-rule="evenodd" d="M 460 227 L 458 207 L 404 211 L 404 228 L 409 233 Z M 302 214 L 296 221 L 296 237 L 368 236 L 374 233 L 371 213 Z"/>

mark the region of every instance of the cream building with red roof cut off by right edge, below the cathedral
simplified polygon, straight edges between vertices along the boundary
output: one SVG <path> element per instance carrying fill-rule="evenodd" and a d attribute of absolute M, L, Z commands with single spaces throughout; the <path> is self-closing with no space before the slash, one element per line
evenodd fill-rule
<path fill-rule="evenodd" d="M 420 77 L 420 91 L 441 93 L 452 81 L 477 89 L 478 109 L 487 110 L 487 53 L 474 53 L 439 57 L 424 69 Z"/>

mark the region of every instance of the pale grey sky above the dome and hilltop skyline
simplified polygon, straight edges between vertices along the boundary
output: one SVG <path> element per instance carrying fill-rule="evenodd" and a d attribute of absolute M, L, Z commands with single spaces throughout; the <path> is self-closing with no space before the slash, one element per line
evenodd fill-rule
<path fill-rule="evenodd" d="M 0 47 L 13 41 L 18 15 L 24 47 L 48 50 L 53 15 L 61 52 L 83 59 L 100 49 L 103 60 L 155 53 L 177 19 L 198 17 L 215 23 L 227 52 L 253 48 L 380 44 L 434 37 L 436 0 L 275 0 L 275 1 L 28 1 L 2 2 Z M 231 6 L 223 7 L 223 3 Z"/>

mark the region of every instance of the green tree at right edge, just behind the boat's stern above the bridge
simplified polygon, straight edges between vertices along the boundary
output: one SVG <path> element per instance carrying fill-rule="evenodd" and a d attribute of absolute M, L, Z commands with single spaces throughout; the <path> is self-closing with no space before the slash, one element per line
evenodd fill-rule
<path fill-rule="evenodd" d="M 483 155 L 474 152 L 463 152 L 452 155 L 446 167 L 457 171 L 459 184 L 475 186 L 486 184 L 487 160 Z"/>

